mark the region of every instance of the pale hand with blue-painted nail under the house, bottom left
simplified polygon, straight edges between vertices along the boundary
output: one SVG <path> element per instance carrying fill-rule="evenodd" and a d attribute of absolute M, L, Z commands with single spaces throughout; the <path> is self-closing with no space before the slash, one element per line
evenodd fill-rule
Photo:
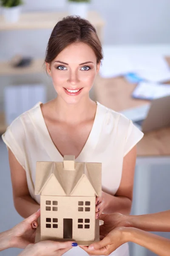
<path fill-rule="evenodd" d="M 61 256 L 72 246 L 77 246 L 77 243 L 40 241 L 37 244 L 29 244 L 18 256 Z"/>

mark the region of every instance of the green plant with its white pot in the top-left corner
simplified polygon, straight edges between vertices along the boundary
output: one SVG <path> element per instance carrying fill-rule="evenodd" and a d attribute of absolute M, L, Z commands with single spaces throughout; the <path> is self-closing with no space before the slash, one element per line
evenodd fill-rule
<path fill-rule="evenodd" d="M 0 0 L 6 22 L 17 22 L 20 17 L 22 0 Z"/>

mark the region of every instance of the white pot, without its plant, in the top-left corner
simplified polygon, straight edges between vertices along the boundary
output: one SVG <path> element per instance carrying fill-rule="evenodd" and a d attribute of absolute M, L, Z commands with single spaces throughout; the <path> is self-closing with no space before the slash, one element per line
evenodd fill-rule
<path fill-rule="evenodd" d="M 15 7 L 3 7 L 3 17 L 8 23 L 14 23 L 19 20 L 20 13 L 21 13 L 21 6 L 15 6 Z"/>

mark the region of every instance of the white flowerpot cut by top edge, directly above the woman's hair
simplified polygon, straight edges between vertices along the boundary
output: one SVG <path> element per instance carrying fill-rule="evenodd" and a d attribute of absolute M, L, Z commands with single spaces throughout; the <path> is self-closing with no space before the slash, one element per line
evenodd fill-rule
<path fill-rule="evenodd" d="M 68 2 L 70 15 L 79 15 L 83 18 L 87 18 L 88 6 L 91 0 L 68 0 Z"/>

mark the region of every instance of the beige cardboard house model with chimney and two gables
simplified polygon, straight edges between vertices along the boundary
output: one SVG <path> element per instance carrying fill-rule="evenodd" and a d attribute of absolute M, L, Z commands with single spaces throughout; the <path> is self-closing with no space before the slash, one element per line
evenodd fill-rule
<path fill-rule="evenodd" d="M 96 196 L 101 196 L 101 163 L 37 162 L 35 195 L 40 195 L 40 240 L 74 240 L 80 245 L 99 241 Z"/>

